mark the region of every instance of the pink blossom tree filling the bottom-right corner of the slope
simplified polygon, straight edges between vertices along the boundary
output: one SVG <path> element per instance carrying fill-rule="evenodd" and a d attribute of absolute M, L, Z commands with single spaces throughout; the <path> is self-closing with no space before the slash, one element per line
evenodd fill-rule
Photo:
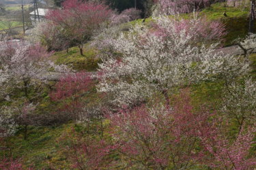
<path fill-rule="evenodd" d="M 208 150 L 208 165 L 220 169 L 253 169 L 256 167 L 256 158 L 249 156 L 255 137 L 255 126 L 245 126 L 239 131 L 235 139 L 230 139 L 227 132 L 216 129 L 208 137 L 201 137 L 205 150 Z"/>

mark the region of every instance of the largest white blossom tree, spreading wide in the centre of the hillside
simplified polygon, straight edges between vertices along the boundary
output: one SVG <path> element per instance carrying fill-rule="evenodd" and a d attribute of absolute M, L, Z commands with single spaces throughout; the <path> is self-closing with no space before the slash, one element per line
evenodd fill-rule
<path fill-rule="evenodd" d="M 122 55 L 100 64 L 98 89 L 113 93 L 113 103 L 130 105 L 160 92 L 169 105 L 168 92 L 174 87 L 223 76 L 229 79 L 248 70 L 245 60 L 214 52 L 216 44 L 195 46 L 195 31 L 177 29 L 178 21 L 168 16 L 155 20 L 161 29 L 137 26 L 122 33 L 112 41 Z"/>

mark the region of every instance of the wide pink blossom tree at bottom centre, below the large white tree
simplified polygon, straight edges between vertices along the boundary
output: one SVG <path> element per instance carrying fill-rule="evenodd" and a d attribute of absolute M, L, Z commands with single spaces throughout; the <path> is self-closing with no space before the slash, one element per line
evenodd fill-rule
<path fill-rule="evenodd" d="M 208 136 L 211 114 L 203 109 L 194 112 L 187 90 L 175 101 L 172 110 L 143 105 L 108 116 L 116 150 L 128 158 L 130 166 L 186 169 L 203 158 L 197 137 Z"/>

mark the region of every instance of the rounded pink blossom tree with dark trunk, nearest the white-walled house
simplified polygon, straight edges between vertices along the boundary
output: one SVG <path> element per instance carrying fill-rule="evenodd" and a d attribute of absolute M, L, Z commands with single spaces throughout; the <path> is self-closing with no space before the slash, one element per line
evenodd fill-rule
<path fill-rule="evenodd" d="M 63 9 L 52 10 L 48 20 L 60 26 L 70 42 L 79 46 L 83 55 L 83 44 L 91 39 L 96 29 L 109 20 L 112 11 L 103 3 L 91 1 L 66 0 Z"/>

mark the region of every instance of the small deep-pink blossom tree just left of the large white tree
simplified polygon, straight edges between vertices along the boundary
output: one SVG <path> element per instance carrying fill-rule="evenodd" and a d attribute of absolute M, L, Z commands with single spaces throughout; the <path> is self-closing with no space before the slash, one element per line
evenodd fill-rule
<path fill-rule="evenodd" d="M 83 96 L 94 87 L 90 73 L 79 72 L 64 76 L 55 84 L 55 90 L 50 93 L 51 99 L 62 103 L 57 114 L 66 114 L 72 120 L 77 120 L 84 113 Z"/>

